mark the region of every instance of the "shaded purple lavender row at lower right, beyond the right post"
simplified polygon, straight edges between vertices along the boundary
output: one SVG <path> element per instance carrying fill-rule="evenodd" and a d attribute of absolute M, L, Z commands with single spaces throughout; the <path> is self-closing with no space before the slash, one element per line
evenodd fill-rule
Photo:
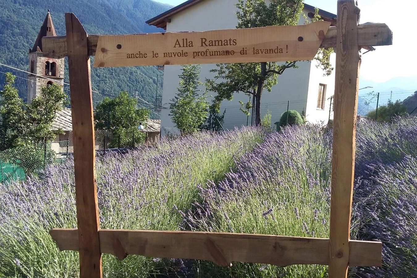
<path fill-rule="evenodd" d="M 369 165 L 355 181 L 356 238 L 382 241 L 382 268 L 359 268 L 359 277 L 417 276 L 417 159 Z"/>

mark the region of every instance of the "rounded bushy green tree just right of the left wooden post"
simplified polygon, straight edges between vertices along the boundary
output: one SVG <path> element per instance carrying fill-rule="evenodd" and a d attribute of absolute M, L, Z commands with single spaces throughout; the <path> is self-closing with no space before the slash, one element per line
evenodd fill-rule
<path fill-rule="evenodd" d="M 149 109 L 138 109 L 138 100 L 128 92 L 122 91 L 116 98 L 104 98 L 95 108 L 94 122 L 96 130 L 109 130 L 108 147 L 118 146 L 119 136 L 122 146 L 131 146 L 132 142 L 144 140 L 145 134 L 138 128 L 149 118 Z"/>

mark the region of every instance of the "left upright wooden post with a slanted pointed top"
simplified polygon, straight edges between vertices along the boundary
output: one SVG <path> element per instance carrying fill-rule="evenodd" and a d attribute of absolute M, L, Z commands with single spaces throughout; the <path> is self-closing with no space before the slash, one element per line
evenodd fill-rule
<path fill-rule="evenodd" d="M 101 278 L 95 142 L 87 33 L 73 13 L 65 14 L 74 140 L 80 278 Z"/>

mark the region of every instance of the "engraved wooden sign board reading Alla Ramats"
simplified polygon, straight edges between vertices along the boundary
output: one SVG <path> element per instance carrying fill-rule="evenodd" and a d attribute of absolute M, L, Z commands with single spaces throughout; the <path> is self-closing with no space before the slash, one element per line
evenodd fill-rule
<path fill-rule="evenodd" d="M 330 23 L 100 35 L 94 67 L 313 60 Z"/>

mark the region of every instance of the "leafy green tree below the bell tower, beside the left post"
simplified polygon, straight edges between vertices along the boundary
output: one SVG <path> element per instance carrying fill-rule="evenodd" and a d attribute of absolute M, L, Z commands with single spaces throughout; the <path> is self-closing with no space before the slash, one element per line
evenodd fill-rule
<path fill-rule="evenodd" d="M 64 130 L 53 130 L 53 122 L 59 111 L 68 104 L 67 95 L 60 85 L 52 84 L 40 89 L 40 95 L 28 105 L 28 140 L 32 143 L 47 142 L 53 140 L 56 135 L 63 134 Z"/>

